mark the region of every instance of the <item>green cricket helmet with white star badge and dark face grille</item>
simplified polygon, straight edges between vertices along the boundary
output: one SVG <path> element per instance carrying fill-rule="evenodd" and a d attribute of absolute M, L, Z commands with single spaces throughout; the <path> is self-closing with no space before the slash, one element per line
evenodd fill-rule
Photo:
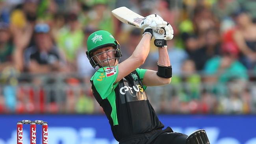
<path fill-rule="evenodd" d="M 95 31 L 94 33 L 92 33 L 91 35 L 89 35 L 88 39 L 87 39 L 87 58 L 89 59 L 91 65 L 93 66 L 93 68 L 95 68 L 96 66 L 98 66 L 99 68 L 101 67 L 101 63 L 103 61 L 100 61 L 97 57 L 97 55 L 92 55 L 93 52 L 95 52 L 96 50 L 100 49 L 100 48 L 104 48 L 104 47 L 108 47 L 108 46 L 113 46 L 114 50 L 109 50 L 107 52 L 102 52 L 102 53 L 108 53 L 108 52 L 113 52 L 113 58 L 108 58 L 107 57 L 107 61 L 109 61 L 110 59 L 116 59 L 116 60 L 120 60 L 120 58 L 122 57 L 122 53 L 121 53 L 121 49 L 120 49 L 120 44 L 115 40 L 115 38 L 113 37 L 113 35 L 111 35 L 111 33 L 109 33 L 108 31 L 104 31 L 104 30 L 99 30 L 99 31 Z M 115 54 L 115 55 L 114 55 Z M 96 62 L 96 59 L 98 59 L 99 62 Z M 101 64 L 101 65 L 100 65 Z M 110 65 L 109 65 L 110 67 Z"/>

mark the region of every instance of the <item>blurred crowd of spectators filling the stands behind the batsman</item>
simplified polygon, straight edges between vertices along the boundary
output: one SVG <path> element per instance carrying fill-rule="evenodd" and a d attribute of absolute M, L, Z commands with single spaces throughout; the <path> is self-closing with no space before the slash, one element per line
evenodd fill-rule
<path fill-rule="evenodd" d="M 0 0 L 0 113 L 102 113 L 86 42 L 106 30 L 132 54 L 143 31 L 111 15 L 121 6 L 173 26 L 172 82 L 147 88 L 158 113 L 256 113 L 254 0 Z M 141 68 L 157 61 L 152 43 Z"/>

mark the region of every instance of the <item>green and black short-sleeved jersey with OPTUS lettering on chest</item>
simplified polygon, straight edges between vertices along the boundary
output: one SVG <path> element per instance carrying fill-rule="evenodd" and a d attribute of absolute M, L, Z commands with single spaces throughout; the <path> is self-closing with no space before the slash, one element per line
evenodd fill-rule
<path fill-rule="evenodd" d="M 106 67 L 105 67 L 106 68 Z M 108 117 L 117 141 L 163 128 L 145 93 L 142 81 L 147 70 L 137 68 L 115 83 L 116 67 L 96 72 L 91 78 L 93 95 Z M 99 70 L 103 71 L 103 70 Z"/>

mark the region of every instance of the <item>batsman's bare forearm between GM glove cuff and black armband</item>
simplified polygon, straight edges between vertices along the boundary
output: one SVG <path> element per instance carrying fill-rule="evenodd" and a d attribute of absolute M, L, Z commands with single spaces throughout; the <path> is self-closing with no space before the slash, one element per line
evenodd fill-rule
<path fill-rule="evenodd" d="M 161 65 L 161 66 L 171 66 L 169 55 L 168 55 L 168 52 L 167 52 L 167 47 L 158 48 L 158 54 L 159 54 L 159 58 L 158 58 L 158 64 L 159 65 Z"/>

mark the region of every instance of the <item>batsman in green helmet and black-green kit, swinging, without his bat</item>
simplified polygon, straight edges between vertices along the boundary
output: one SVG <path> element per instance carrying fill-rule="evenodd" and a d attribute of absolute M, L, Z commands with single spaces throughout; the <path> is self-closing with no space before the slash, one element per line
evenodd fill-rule
<path fill-rule="evenodd" d="M 93 95 L 109 120 L 113 136 L 119 144 L 210 144 L 204 130 L 187 136 L 170 127 L 163 129 L 145 89 L 171 82 L 166 41 L 173 39 L 173 28 L 156 14 L 145 17 L 140 28 L 144 29 L 141 41 L 122 63 L 120 44 L 108 31 L 95 31 L 87 40 L 87 57 L 97 69 L 91 78 Z M 159 52 L 158 71 L 138 68 L 148 56 L 152 37 Z"/>

